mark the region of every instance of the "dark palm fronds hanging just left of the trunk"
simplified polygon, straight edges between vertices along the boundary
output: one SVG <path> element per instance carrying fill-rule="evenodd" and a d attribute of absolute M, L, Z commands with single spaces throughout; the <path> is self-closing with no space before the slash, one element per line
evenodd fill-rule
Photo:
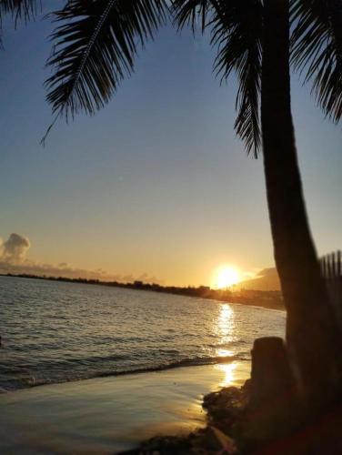
<path fill-rule="evenodd" d="M 261 146 L 259 102 L 261 79 L 262 5 L 260 0 L 175 0 L 173 11 L 179 28 L 211 31 L 211 44 L 217 48 L 216 76 L 227 79 L 232 72 L 238 79 L 236 134 L 246 152 L 257 157 Z"/>

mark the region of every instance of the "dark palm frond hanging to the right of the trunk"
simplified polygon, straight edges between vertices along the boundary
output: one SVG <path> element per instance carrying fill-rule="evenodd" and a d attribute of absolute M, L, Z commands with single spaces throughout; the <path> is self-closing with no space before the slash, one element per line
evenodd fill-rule
<path fill-rule="evenodd" d="M 342 2 L 291 0 L 291 62 L 326 116 L 337 123 L 342 116 Z"/>

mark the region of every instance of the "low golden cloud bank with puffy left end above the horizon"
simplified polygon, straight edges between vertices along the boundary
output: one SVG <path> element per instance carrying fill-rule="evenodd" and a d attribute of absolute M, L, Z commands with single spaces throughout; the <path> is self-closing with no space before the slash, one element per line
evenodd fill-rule
<path fill-rule="evenodd" d="M 100 279 L 101 281 L 131 282 L 135 279 L 144 277 L 146 283 L 159 283 L 155 277 L 150 277 L 144 273 L 141 277 L 135 278 L 133 275 L 118 275 L 106 272 L 102 268 L 88 270 L 85 268 L 74 268 L 66 262 L 57 265 L 36 262 L 26 258 L 26 254 L 31 247 L 28 238 L 19 234 L 12 233 L 3 242 L 0 238 L 0 273 L 28 274 L 46 277 L 64 278 L 86 278 Z"/>

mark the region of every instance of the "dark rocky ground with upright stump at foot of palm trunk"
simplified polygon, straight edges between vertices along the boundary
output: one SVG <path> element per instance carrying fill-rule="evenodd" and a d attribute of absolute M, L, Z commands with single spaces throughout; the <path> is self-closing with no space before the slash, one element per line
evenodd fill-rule
<path fill-rule="evenodd" d="M 281 339 L 256 340 L 257 356 L 267 345 L 267 364 L 256 359 L 251 379 L 241 388 L 226 387 L 203 400 L 206 427 L 186 436 L 156 437 L 126 455 L 335 455 L 342 453 L 342 405 L 333 403 L 307 414 L 287 371 L 279 361 Z M 257 344 L 257 348 L 256 348 Z M 270 346 L 271 345 L 271 346 Z M 270 349 L 271 348 L 271 349 Z M 276 360 L 280 368 L 275 369 Z M 272 365 L 272 366 L 271 366 Z M 260 369 L 260 367 L 262 369 Z M 268 368 L 268 370 L 267 370 Z M 277 377 L 271 374 L 277 370 Z M 264 375 L 262 375 L 264 373 Z M 260 378 L 261 375 L 261 378 Z M 261 380 L 260 380 L 261 379 Z M 275 387 L 276 386 L 276 387 Z M 322 393 L 325 393 L 322 390 Z"/>

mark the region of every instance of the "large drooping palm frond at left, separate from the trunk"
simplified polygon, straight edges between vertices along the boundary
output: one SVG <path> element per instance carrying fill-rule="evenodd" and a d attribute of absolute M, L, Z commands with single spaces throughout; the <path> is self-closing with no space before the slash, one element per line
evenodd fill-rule
<path fill-rule="evenodd" d="M 133 71 L 138 45 L 165 23 L 165 0 L 69 0 L 52 14 L 47 101 L 56 116 L 94 114 Z"/>

